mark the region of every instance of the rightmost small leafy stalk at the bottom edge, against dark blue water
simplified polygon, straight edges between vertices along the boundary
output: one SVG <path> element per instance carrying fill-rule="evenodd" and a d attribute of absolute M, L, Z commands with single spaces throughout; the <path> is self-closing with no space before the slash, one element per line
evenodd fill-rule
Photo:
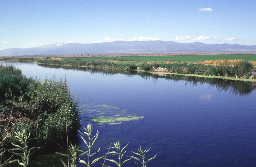
<path fill-rule="evenodd" d="M 147 166 L 146 163 L 147 163 L 148 161 L 151 161 L 152 159 L 156 158 L 157 153 L 155 154 L 154 157 L 152 157 L 152 158 L 148 159 L 147 161 L 145 161 L 145 154 L 146 154 L 150 149 L 151 149 L 151 146 L 150 146 L 149 149 L 145 149 L 145 150 L 143 151 L 142 148 L 141 148 L 141 145 L 140 145 L 140 148 L 138 148 L 139 153 L 132 151 L 132 153 L 134 153 L 134 154 L 136 154 L 137 156 L 139 156 L 139 158 L 134 157 L 134 156 L 131 156 L 131 158 L 133 158 L 133 159 L 136 160 L 136 161 L 135 161 L 135 164 L 136 164 L 137 166 L 139 166 L 139 167 L 146 167 L 146 166 Z M 138 164 L 137 161 L 140 162 L 141 165 Z"/>

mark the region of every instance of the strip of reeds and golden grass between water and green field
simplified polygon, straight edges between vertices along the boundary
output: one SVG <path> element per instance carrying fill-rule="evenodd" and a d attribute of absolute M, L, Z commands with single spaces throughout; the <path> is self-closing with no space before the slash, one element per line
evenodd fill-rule
<path fill-rule="evenodd" d="M 197 63 L 182 62 L 138 62 L 132 60 L 82 60 L 76 59 L 39 59 L 38 63 L 94 67 L 103 70 L 143 70 L 160 71 L 177 74 L 204 75 L 217 77 L 235 77 L 243 79 L 255 79 L 256 70 L 251 62 L 246 60 L 217 60 L 200 61 Z M 206 65 L 207 64 L 207 65 Z"/>

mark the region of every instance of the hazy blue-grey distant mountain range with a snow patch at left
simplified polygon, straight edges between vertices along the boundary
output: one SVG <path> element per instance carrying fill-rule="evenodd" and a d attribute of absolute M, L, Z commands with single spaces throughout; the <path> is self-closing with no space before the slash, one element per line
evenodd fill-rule
<path fill-rule="evenodd" d="M 55 43 L 0 51 L 0 56 L 101 54 L 256 53 L 256 45 L 178 43 L 173 41 L 114 41 L 92 44 Z"/>

